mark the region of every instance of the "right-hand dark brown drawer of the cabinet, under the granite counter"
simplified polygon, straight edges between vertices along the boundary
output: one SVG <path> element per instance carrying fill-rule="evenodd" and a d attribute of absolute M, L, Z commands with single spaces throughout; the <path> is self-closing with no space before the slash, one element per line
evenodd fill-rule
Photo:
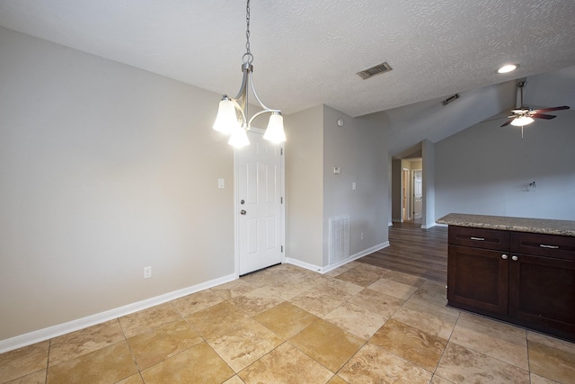
<path fill-rule="evenodd" d="M 575 260 L 575 237 L 511 232 L 511 253 Z"/>

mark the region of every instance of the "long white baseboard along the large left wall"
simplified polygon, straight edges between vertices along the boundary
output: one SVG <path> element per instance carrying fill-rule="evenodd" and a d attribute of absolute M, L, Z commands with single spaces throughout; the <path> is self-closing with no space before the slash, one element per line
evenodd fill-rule
<path fill-rule="evenodd" d="M 76 320 L 68 321 L 66 323 L 58 324 L 57 326 L 49 326 L 47 328 L 39 329 L 24 335 L 17 335 L 9 339 L 0 340 L 0 353 L 13 351 L 14 349 L 21 348 L 26 345 L 36 344 L 49 340 L 53 337 L 66 335 L 88 326 L 95 326 L 105 321 L 113 320 L 114 318 L 129 315 L 146 308 L 151 308 L 159 304 L 172 301 L 173 299 L 180 299 L 192 293 L 199 292 L 200 290 L 207 290 L 208 288 L 216 287 L 217 285 L 224 284 L 229 281 L 237 279 L 235 274 L 228 274 L 227 276 L 219 277 L 214 280 L 201 282 L 192 285 L 188 288 L 181 290 L 173 290 L 172 292 L 165 293 L 164 295 L 156 296 L 150 299 L 144 299 L 123 307 L 110 309 L 95 315 L 78 318 Z"/>

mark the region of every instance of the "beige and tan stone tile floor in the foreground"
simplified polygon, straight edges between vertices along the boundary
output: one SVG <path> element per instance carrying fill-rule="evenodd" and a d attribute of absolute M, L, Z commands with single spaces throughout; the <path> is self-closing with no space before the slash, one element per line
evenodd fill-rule
<path fill-rule="evenodd" d="M 445 285 L 283 264 L 0 354 L 2 383 L 575 383 L 575 344 L 446 307 Z"/>

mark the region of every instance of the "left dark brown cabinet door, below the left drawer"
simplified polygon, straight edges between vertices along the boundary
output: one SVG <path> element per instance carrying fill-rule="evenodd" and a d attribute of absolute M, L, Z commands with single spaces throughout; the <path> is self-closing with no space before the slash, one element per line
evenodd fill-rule
<path fill-rule="evenodd" d="M 449 246 L 447 301 L 450 306 L 507 314 L 509 259 L 500 251 Z"/>

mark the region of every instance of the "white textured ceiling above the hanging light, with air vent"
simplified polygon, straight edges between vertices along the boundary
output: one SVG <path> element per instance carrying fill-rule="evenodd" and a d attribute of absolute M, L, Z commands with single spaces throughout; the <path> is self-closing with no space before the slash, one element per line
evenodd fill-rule
<path fill-rule="evenodd" d="M 285 113 L 380 112 L 575 66 L 573 0 L 254 0 L 254 81 Z M 0 25 L 235 94 L 245 3 L 0 0 Z M 394 70 L 356 73 L 387 61 Z M 517 71 L 496 73 L 518 63 Z M 486 92 L 489 94 L 489 92 Z"/>

